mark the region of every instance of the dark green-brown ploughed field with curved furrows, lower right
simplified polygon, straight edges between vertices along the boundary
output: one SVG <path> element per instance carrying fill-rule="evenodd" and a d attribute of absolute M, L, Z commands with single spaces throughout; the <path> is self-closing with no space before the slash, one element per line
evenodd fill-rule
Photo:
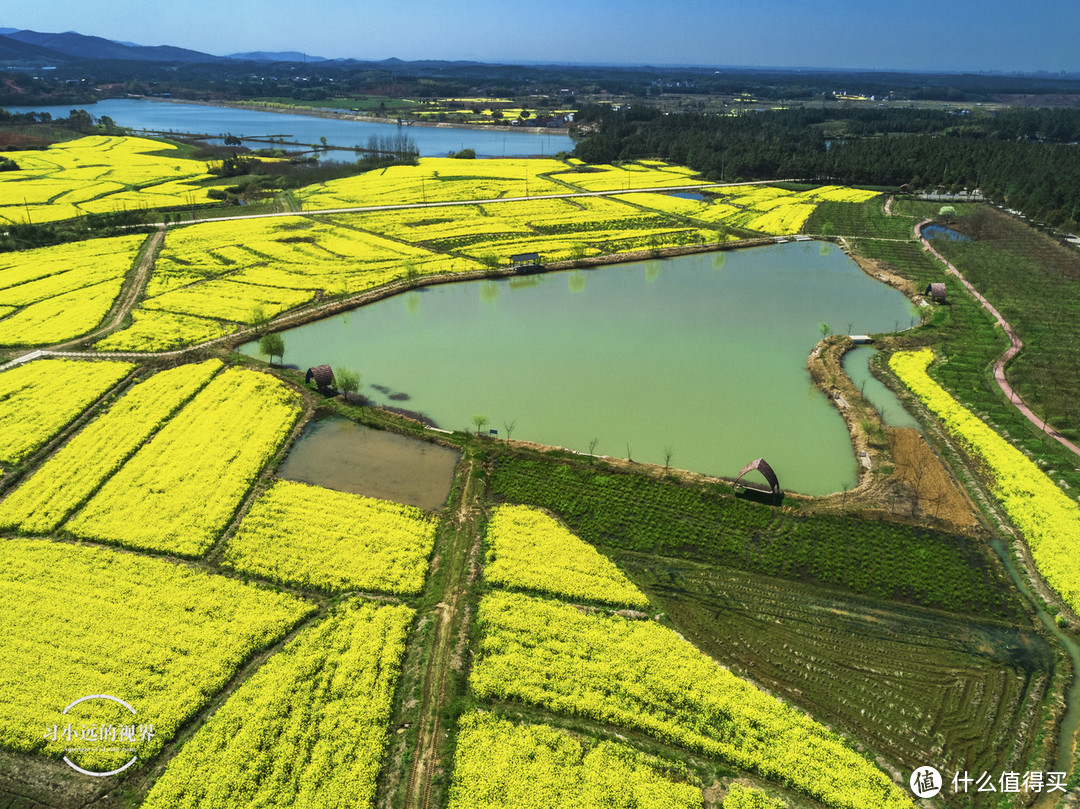
<path fill-rule="evenodd" d="M 908 770 L 932 759 L 1023 772 L 1035 752 L 1026 727 L 1056 662 L 1034 631 L 677 559 L 618 561 L 700 648 Z"/>

